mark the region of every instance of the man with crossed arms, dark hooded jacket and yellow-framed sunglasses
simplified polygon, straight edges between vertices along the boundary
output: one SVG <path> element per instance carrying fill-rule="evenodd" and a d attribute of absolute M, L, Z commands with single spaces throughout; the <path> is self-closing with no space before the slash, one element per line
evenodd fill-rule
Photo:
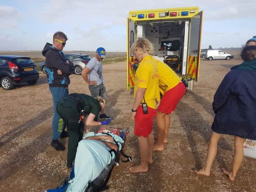
<path fill-rule="evenodd" d="M 69 62 L 62 52 L 66 41 L 67 36 L 63 32 L 58 31 L 54 33 L 53 44 L 46 43 L 42 51 L 42 54 L 45 56 L 46 75 L 54 106 L 51 146 L 58 151 L 65 150 L 65 147 L 59 143 L 58 138 L 67 137 L 67 132 L 63 131 L 63 119 L 58 115 L 56 107 L 57 102 L 68 95 L 69 76 L 74 67 L 73 63 Z"/>

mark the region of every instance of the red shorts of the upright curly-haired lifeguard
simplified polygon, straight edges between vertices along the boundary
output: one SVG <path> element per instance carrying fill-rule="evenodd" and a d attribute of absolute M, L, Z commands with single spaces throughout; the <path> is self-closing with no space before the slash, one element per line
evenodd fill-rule
<path fill-rule="evenodd" d="M 143 114 L 141 105 L 138 107 L 134 125 L 134 134 L 137 137 L 148 137 L 148 135 L 151 134 L 156 114 L 157 110 L 151 107 L 148 107 L 148 114 Z"/>

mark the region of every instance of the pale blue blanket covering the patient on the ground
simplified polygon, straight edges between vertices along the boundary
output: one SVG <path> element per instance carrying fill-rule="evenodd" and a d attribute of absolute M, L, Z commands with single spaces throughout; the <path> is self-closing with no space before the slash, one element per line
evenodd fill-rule
<path fill-rule="evenodd" d="M 70 180 L 67 187 L 67 192 L 83 192 L 87 188 L 88 183 L 96 179 L 102 170 L 110 164 L 111 160 L 115 158 L 115 154 L 110 153 L 110 149 L 102 142 L 96 140 L 86 139 L 87 137 L 106 135 L 95 134 L 90 132 L 85 134 L 83 140 L 78 143 L 76 159 L 75 159 L 75 177 Z M 114 140 L 124 143 L 121 137 L 112 134 Z M 119 143 L 119 150 L 121 144 Z"/>

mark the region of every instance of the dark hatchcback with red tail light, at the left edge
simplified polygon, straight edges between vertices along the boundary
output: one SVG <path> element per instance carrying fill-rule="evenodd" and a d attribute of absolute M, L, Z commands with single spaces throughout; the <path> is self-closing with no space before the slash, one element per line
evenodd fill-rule
<path fill-rule="evenodd" d="M 0 85 L 13 89 L 15 85 L 27 82 L 36 84 L 39 73 L 31 58 L 18 55 L 0 55 Z"/>

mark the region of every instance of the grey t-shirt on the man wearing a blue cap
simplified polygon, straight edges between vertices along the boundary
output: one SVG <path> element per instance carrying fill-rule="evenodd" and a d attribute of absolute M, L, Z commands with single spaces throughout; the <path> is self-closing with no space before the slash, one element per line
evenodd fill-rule
<path fill-rule="evenodd" d="M 97 60 L 97 58 L 92 58 L 89 63 L 86 65 L 90 69 L 89 80 L 95 80 L 97 85 L 104 83 L 102 76 L 102 63 Z"/>

